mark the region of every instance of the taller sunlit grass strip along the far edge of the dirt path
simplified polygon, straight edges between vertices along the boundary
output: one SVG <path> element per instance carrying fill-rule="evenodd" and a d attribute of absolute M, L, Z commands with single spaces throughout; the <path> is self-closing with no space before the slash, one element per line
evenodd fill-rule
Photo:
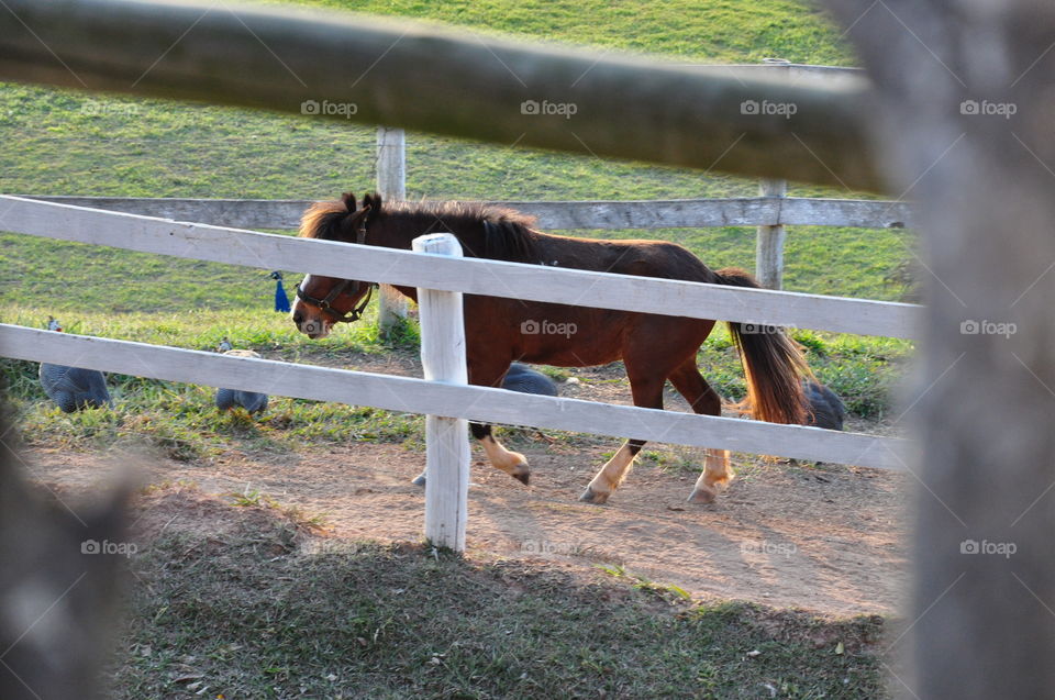
<path fill-rule="evenodd" d="M 371 309 L 370 314 L 376 313 Z M 41 325 L 44 309 L 11 307 L 0 311 L 0 322 Z M 288 362 L 354 368 L 363 355 L 418 352 L 419 329 L 409 320 L 393 338 L 378 337 L 371 315 L 342 325 L 322 341 L 298 333 L 286 314 L 266 309 L 196 311 L 189 313 L 81 313 L 66 324 L 69 333 L 112 337 L 188 349 L 214 349 L 227 337 L 235 347 L 255 349 Z M 798 331 L 810 366 L 822 382 L 840 395 L 847 408 L 866 418 L 882 418 L 890 393 L 903 373 L 911 345 L 903 341 L 860 338 Z M 723 326 L 703 344 L 699 365 L 708 381 L 724 397 L 742 399 L 746 392 L 736 351 Z M 562 368 L 543 368 L 558 379 Z M 18 416 L 22 438 L 30 444 L 64 445 L 78 449 L 152 445 L 166 456 L 208 459 L 225 448 L 256 453 L 288 453 L 306 446 L 352 442 L 381 442 L 420 448 L 421 416 L 398 412 L 271 397 L 258 418 L 243 412 L 219 412 L 213 387 L 185 385 L 130 375 L 110 375 L 114 410 L 62 413 L 44 396 L 36 379 L 36 363 L 0 359 L 9 401 Z M 588 380 L 588 379 L 586 379 Z M 531 440 L 533 432 L 511 431 L 510 437 Z M 590 438 L 564 436 L 562 442 L 586 444 Z"/>

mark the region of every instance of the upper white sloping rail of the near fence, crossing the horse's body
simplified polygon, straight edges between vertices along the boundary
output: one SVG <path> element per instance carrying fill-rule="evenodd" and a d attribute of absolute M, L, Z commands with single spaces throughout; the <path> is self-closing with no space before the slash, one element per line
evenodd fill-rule
<path fill-rule="evenodd" d="M 913 337 L 920 307 L 296 238 L 0 196 L 0 231 L 143 253 L 558 304 Z"/>

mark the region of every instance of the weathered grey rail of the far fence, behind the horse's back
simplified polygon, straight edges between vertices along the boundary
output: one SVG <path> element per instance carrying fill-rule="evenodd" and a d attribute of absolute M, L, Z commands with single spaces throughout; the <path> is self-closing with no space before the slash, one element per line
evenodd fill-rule
<path fill-rule="evenodd" d="M 312 200 L 301 199 L 170 199 L 138 197 L 38 197 L 59 204 L 106 209 L 129 214 L 195 221 L 244 229 L 296 229 Z M 502 201 L 537 216 L 538 226 L 570 229 L 703 229 L 711 226 L 911 226 L 906 202 L 865 199 L 743 197 L 625 201 Z"/>

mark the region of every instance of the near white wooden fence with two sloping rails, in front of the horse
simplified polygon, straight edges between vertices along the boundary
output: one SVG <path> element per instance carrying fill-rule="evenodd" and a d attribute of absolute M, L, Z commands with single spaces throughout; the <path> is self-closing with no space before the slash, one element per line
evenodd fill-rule
<path fill-rule="evenodd" d="M 570 304 L 588 299 L 589 305 L 607 309 L 869 335 L 910 337 L 919 313 L 919 308 L 911 304 L 460 257 L 426 257 L 409 251 L 181 223 L 15 197 L 0 197 L 0 230 L 263 269 L 293 267 L 315 275 L 406 285 L 423 290 Z M 452 308 L 449 301 L 440 305 Z M 424 309 L 422 312 L 427 313 Z M 457 319 L 445 319 L 438 326 L 460 329 L 462 324 Z M 423 323 L 422 332 L 427 334 L 432 332 L 430 327 L 438 326 Z M 422 344 L 427 346 L 430 342 L 423 337 Z M 0 325 L 0 354 L 448 419 L 902 468 L 899 453 L 903 441 L 895 438 L 462 386 L 451 382 L 447 375 L 449 364 L 443 365 L 447 369 L 437 370 L 434 380 L 414 379 L 229 357 L 7 324 Z M 467 459 L 464 462 L 459 469 L 468 468 Z M 456 488 L 448 489 L 442 482 L 436 488 L 442 492 L 457 492 Z M 452 512 L 464 514 L 464 509 Z M 431 540 L 455 548 L 464 546 L 464 526 L 459 536 L 456 523 L 445 521 L 440 526 L 427 515 L 426 522 L 433 523 L 433 529 L 426 532 Z"/>

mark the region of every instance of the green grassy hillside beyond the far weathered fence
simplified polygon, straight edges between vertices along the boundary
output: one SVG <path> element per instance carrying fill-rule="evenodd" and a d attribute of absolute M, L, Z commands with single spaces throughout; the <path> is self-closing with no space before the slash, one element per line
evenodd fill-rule
<path fill-rule="evenodd" d="M 704 7 L 599 0 L 304 4 L 436 20 L 603 51 L 648 52 L 685 63 L 756 63 L 767 56 L 825 64 L 852 60 L 817 8 L 787 0 L 726 0 Z M 374 137 L 369 127 L 295 116 L 4 85 L 0 86 L 0 191 L 326 198 L 373 186 Z M 409 136 L 411 198 L 633 199 L 755 191 L 754 181 L 690 170 Z M 795 193 L 821 190 L 799 188 Z M 673 238 L 714 267 L 749 268 L 753 234 L 752 229 L 710 229 L 606 235 Z M 900 290 L 885 285 L 884 277 L 904 259 L 910 241 L 904 232 L 792 229 L 787 287 L 896 298 Z M 31 303 L 41 299 L 51 286 L 48 280 L 63 279 L 76 293 L 49 295 L 56 311 L 177 310 L 188 303 L 235 309 L 251 303 L 262 288 L 253 270 L 23 236 L 0 237 L 0 300 Z"/>

